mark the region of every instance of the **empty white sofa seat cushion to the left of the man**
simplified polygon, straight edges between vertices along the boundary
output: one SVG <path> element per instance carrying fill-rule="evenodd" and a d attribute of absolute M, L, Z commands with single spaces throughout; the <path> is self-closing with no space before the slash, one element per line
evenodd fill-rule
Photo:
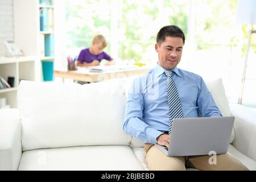
<path fill-rule="evenodd" d="M 18 170 L 143 170 L 129 146 L 85 146 L 25 151 Z"/>

